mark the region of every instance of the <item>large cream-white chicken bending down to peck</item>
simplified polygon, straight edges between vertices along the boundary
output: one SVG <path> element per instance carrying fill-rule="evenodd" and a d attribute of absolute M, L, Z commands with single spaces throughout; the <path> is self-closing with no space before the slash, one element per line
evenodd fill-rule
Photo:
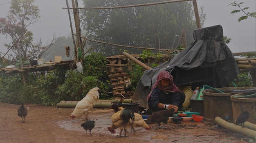
<path fill-rule="evenodd" d="M 73 113 L 70 115 L 72 119 L 79 118 L 82 115 L 85 115 L 83 120 L 88 120 L 88 112 L 92 110 L 94 106 L 94 101 L 99 99 L 99 88 L 94 87 L 91 89 L 87 95 L 76 104 L 76 108 Z"/>

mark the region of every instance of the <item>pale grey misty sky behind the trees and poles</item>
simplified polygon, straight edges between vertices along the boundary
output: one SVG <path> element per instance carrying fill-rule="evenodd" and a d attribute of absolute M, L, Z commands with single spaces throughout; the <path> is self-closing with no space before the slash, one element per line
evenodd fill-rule
<path fill-rule="evenodd" d="M 67 36 L 71 33 L 70 21 L 67 13 L 65 0 L 35 0 L 35 5 L 40 9 L 40 21 L 29 26 L 28 30 L 34 33 L 34 40 L 41 38 L 44 45 L 52 39 L 53 34 Z M 167 0 L 166 0 L 167 1 Z M 238 9 L 229 6 L 232 2 L 244 2 L 242 7 L 249 7 L 247 12 L 256 12 L 256 0 L 197 0 L 198 9 L 204 7 L 206 20 L 203 27 L 221 25 L 224 36 L 231 38 L 228 47 L 233 53 L 256 51 L 256 18 L 249 17 L 247 20 L 238 22 L 242 13 L 230 14 Z M 6 17 L 11 0 L 0 0 L 0 17 Z M 72 6 L 71 0 L 68 0 Z M 79 7 L 83 7 L 82 0 L 78 0 Z M 74 21 L 73 15 L 71 15 Z M 74 23 L 73 23 L 74 29 Z M 7 52 L 4 43 L 8 41 L 0 34 L 0 52 Z M 3 54 L 2 54 L 3 55 Z"/>

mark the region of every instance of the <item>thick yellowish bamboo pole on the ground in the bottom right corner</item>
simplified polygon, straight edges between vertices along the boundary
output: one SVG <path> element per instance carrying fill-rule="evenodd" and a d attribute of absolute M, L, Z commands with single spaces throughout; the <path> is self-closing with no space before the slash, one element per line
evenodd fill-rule
<path fill-rule="evenodd" d="M 221 119 L 220 117 L 216 117 L 215 118 L 215 122 L 217 124 L 219 124 L 220 126 L 227 128 L 229 130 L 232 130 L 234 132 L 238 132 L 240 134 L 244 134 L 246 136 L 255 138 L 256 137 L 256 131 L 255 130 L 251 130 L 248 128 L 242 128 L 241 126 L 235 125 L 233 123 L 229 123 L 223 119 Z"/>

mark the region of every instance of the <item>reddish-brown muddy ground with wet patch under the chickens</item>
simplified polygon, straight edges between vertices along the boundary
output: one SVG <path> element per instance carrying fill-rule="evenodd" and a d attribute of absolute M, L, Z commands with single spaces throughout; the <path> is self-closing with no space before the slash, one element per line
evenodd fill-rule
<path fill-rule="evenodd" d="M 74 108 L 57 108 L 25 104 L 29 113 L 25 123 L 17 115 L 20 105 L 0 103 L 0 143 L 240 143 L 241 138 L 248 138 L 243 134 L 232 132 L 221 126 L 209 122 L 182 122 L 161 125 L 148 124 L 150 130 L 135 127 L 128 137 L 117 138 L 107 127 L 111 126 L 110 109 L 94 108 L 88 117 L 96 122 L 92 129 L 92 136 L 80 126 L 84 121 L 70 118 Z M 124 134 L 123 134 L 124 135 Z"/>

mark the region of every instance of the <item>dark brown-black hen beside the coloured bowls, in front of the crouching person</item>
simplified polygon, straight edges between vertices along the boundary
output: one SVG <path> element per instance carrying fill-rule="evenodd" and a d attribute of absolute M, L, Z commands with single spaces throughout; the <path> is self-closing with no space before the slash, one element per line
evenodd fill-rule
<path fill-rule="evenodd" d="M 168 110 L 156 111 L 156 112 L 153 112 L 152 115 L 148 117 L 148 120 L 156 122 L 159 128 L 159 126 L 161 125 L 161 122 L 168 125 L 167 121 L 169 117 L 173 115 L 173 113 L 174 113 L 174 108 L 171 108 Z"/>

